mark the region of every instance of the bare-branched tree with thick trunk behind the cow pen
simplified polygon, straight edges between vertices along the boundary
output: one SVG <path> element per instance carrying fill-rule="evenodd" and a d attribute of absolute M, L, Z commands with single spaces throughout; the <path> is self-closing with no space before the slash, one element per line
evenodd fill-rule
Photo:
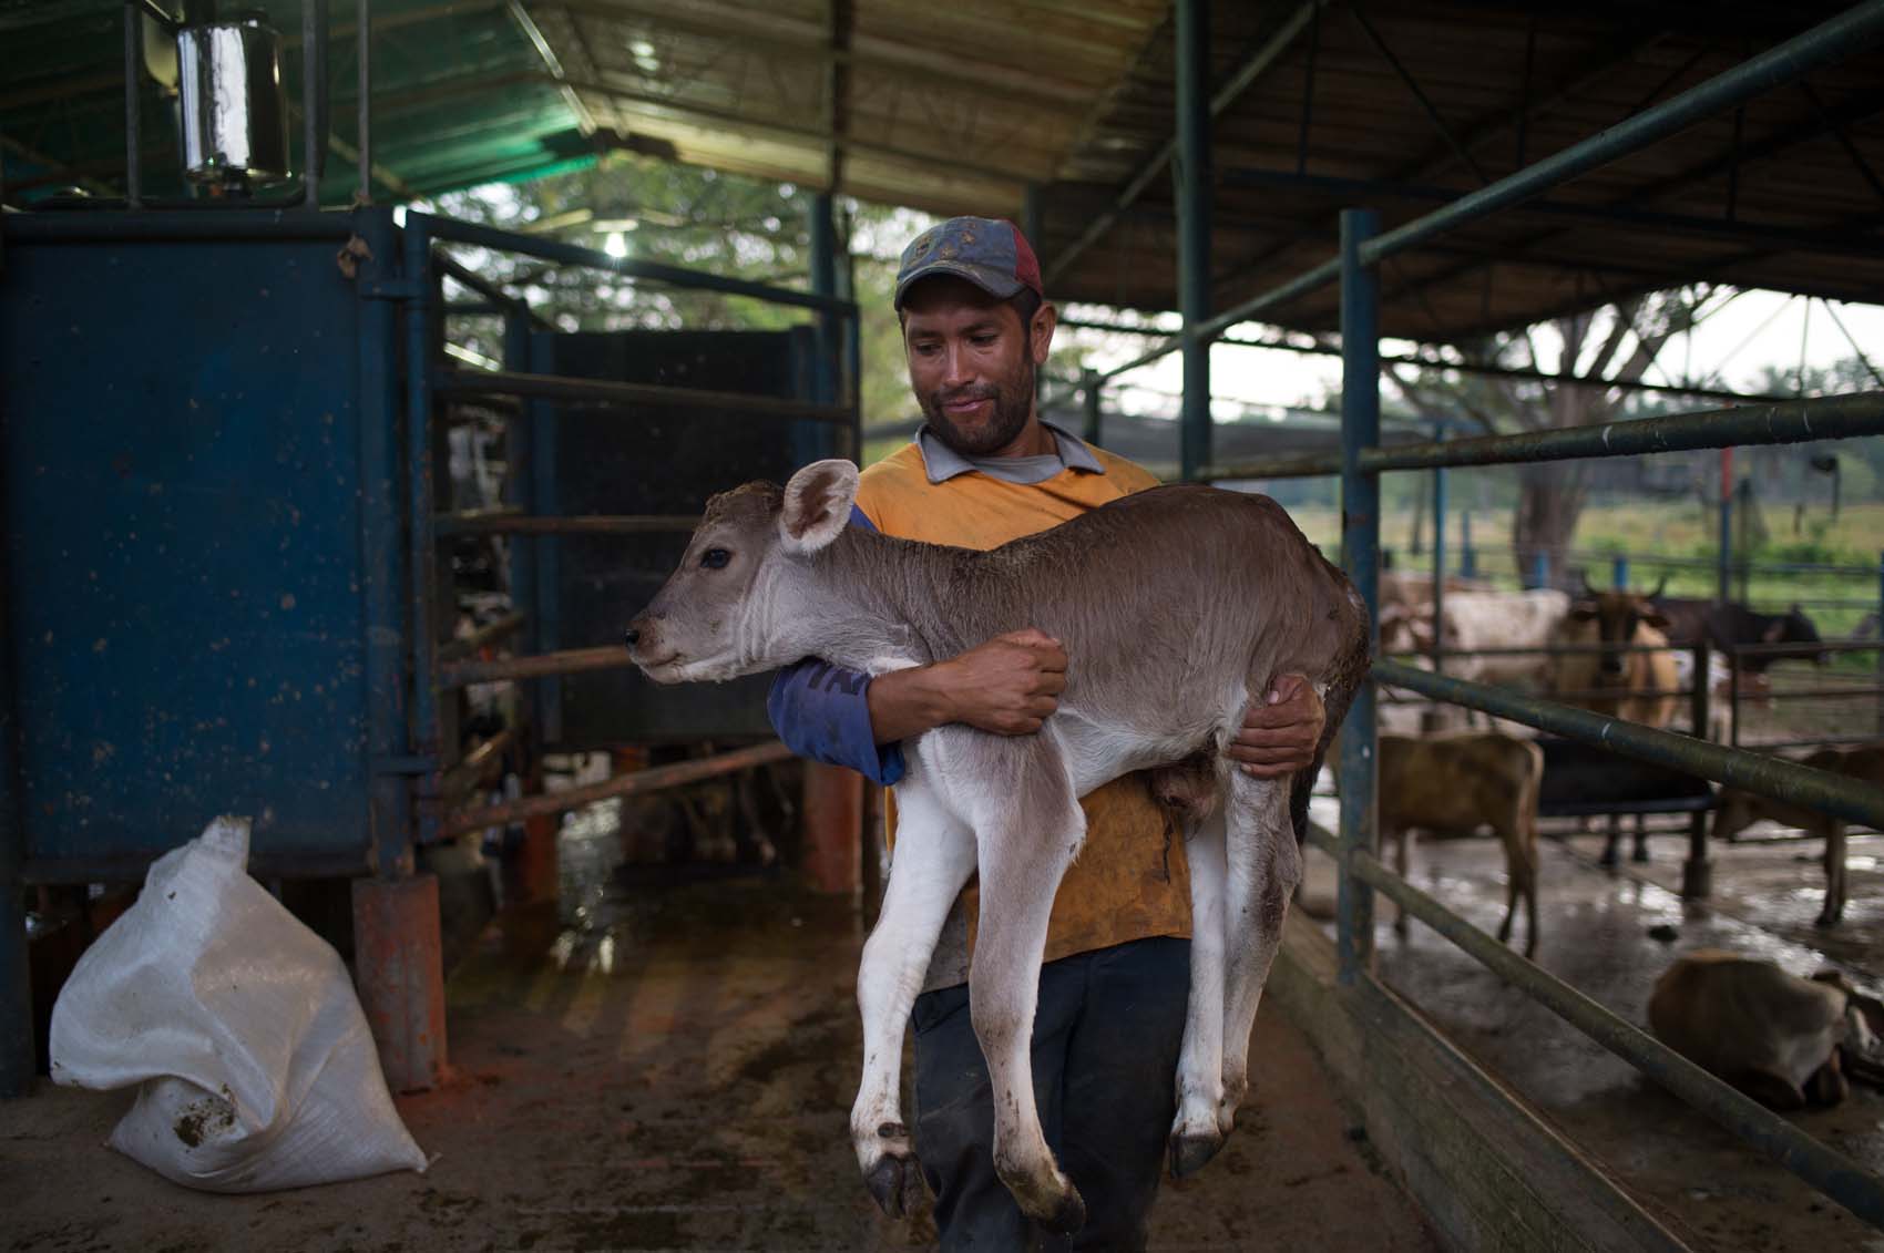
<path fill-rule="evenodd" d="M 1720 311 L 1739 292 L 1694 285 L 1650 292 L 1537 326 L 1454 345 L 1445 364 L 1385 366 L 1385 379 L 1426 418 L 1464 418 L 1486 435 L 1590 426 L 1613 420 L 1626 401 L 1618 382 L 1641 382 L 1669 339 Z M 1530 367 L 1575 382 L 1462 373 L 1447 366 Z M 1519 501 L 1511 556 L 1530 571 L 1539 554 L 1562 569 L 1588 494 L 1583 462 L 1517 467 Z"/>

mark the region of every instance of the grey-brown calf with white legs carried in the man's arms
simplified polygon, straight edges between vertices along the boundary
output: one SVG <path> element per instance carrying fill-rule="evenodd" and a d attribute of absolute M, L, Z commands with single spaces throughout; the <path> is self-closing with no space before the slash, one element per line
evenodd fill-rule
<path fill-rule="evenodd" d="M 1085 837 L 1078 797 L 1144 769 L 1159 795 L 1208 784 L 1210 803 L 1183 814 L 1191 1004 L 1170 1157 L 1189 1174 L 1223 1146 L 1249 1085 L 1309 786 L 1368 671 L 1366 605 L 1264 496 L 1153 488 L 987 552 L 852 528 L 855 496 L 857 467 L 831 460 L 784 490 L 712 497 L 680 567 L 629 622 L 629 658 L 665 684 L 808 656 L 884 675 L 1027 626 L 1064 643 L 1066 688 L 1038 733 L 948 724 L 906 746 L 901 838 L 857 974 L 865 1072 L 850 1129 L 870 1193 L 895 1213 L 916 1178 L 897 1108 L 902 1031 L 942 921 L 980 871 L 968 1004 L 995 1168 L 1023 1213 L 1078 1230 L 1085 1206 L 1040 1129 L 1029 1051 L 1048 912 Z M 1326 708 L 1315 765 L 1292 780 L 1232 771 L 1223 750 L 1245 705 L 1283 673 L 1307 676 Z"/>

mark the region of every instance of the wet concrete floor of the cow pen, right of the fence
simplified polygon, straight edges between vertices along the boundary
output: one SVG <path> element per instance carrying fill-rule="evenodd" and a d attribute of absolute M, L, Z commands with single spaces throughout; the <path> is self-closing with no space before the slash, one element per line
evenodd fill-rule
<path fill-rule="evenodd" d="M 1839 965 L 1876 991 L 1884 974 L 1884 837 L 1854 837 L 1850 904 L 1835 929 L 1812 925 L 1824 886 L 1816 842 L 1716 844 L 1714 897 L 1705 906 L 1677 895 L 1686 831 L 1652 837 L 1652 861 L 1620 871 L 1598 867 L 1601 846 L 1601 835 L 1543 840 L 1537 963 L 1622 1017 L 1647 1029 L 1654 980 L 1694 948 L 1756 953 L 1795 974 Z M 1311 854 L 1311 910 L 1332 897 L 1332 863 Z M 1486 931 L 1503 916 L 1503 854 L 1488 838 L 1422 842 L 1413 882 Z M 1522 927 L 1520 918 L 1519 938 Z M 1675 936 L 1650 936 L 1656 927 L 1673 927 Z M 1432 931 L 1415 923 L 1402 940 L 1381 923 L 1377 940 L 1377 968 L 1389 985 L 1605 1161 L 1641 1204 L 1696 1247 L 1884 1249 L 1884 1234 L 1741 1147 Z M 1884 1093 L 1854 1087 L 1843 1106 L 1794 1119 L 1884 1170 Z"/>

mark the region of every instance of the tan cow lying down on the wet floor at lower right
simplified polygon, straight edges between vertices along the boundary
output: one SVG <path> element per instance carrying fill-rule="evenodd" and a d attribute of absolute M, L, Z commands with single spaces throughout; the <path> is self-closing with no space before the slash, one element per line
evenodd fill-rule
<path fill-rule="evenodd" d="M 1876 1002 L 1831 972 L 1701 948 L 1662 972 L 1648 1027 L 1671 1050 L 1775 1110 L 1839 1104 L 1844 1072 L 1878 1072 Z"/>

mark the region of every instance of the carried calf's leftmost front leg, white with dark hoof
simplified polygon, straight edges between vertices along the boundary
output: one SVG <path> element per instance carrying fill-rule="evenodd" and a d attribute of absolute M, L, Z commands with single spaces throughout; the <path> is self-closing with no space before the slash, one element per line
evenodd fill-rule
<path fill-rule="evenodd" d="M 899 1110 L 902 1031 L 948 910 L 974 872 L 974 835 L 940 805 L 919 759 L 897 789 L 897 810 L 884 908 L 857 967 L 863 1082 L 850 1110 L 857 1166 L 891 1217 L 902 1213 L 904 1187 L 916 1185 L 910 1132 Z"/>

